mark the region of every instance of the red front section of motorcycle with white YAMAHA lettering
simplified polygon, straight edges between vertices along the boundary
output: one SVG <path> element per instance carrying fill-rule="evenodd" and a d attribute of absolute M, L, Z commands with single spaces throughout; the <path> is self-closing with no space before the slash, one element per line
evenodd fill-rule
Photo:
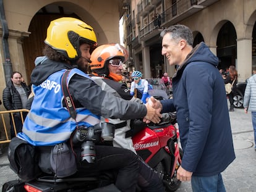
<path fill-rule="evenodd" d="M 132 136 L 134 148 L 142 159 L 163 180 L 165 191 L 176 191 L 181 185 L 177 169 L 183 152 L 179 148 L 179 130 L 175 127 L 176 114 L 164 114 L 159 124 L 147 125 Z"/>

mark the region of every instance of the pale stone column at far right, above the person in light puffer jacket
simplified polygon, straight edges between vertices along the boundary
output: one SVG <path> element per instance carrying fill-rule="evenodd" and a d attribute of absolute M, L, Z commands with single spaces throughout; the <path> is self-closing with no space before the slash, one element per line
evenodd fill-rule
<path fill-rule="evenodd" d="M 237 39 L 238 81 L 245 81 L 252 75 L 252 38 Z"/>

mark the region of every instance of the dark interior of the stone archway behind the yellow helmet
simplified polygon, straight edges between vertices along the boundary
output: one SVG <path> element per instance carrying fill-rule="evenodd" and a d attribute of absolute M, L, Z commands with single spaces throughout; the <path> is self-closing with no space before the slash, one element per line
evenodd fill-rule
<path fill-rule="evenodd" d="M 73 2 L 53 2 L 41 7 L 33 16 L 28 27 L 30 35 L 23 38 L 22 48 L 28 78 L 27 83 L 30 83 L 30 75 L 35 68 L 34 61 L 36 57 L 42 56 L 42 51 L 45 47 L 44 40 L 46 38 L 46 30 L 49 23 L 51 20 L 58 19 L 59 17 L 75 17 L 83 20 L 94 28 L 98 43 L 100 41 L 108 42 L 108 38 L 104 33 L 106 30 L 103 30 L 100 23 L 96 20 L 96 14 L 91 15 L 83 6 L 79 6 Z"/>

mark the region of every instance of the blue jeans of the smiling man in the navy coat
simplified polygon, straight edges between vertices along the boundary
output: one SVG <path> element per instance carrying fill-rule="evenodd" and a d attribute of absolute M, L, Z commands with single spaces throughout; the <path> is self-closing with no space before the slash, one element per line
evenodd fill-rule
<path fill-rule="evenodd" d="M 192 176 L 193 192 L 226 192 L 221 173 L 210 177 Z"/>

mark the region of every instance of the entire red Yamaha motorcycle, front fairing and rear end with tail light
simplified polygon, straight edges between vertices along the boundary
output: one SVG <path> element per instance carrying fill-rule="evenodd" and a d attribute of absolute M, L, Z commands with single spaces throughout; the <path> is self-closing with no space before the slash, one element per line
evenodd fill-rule
<path fill-rule="evenodd" d="M 182 149 L 179 148 L 179 132 L 174 127 L 176 115 L 164 114 L 163 117 L 161 123 L 146 127 L 145 123 L 135 123 L 135 127 L 139 126 L 140 131 L 132 136 L 132 140 L 139 156 L 158 173 L 163 180 L 165 191 L 169 192 L 176 191 L 181 185 L 181 181 L 177 180 L 176 172 L 181 165 Z M 134 128 L 134 130 L 138 129 Z M 54 178 L 51 175 L 43 175 L 37 180 L 20 182 L 14 184 L 19 185 L 19 191 L 94 191 L 93 189 L 97 188 L 100 180 L 98 175 L 69 178 Z M 113 185 L 101 189 L 105 192 L 115 190 Z M 2 191 L 9 191 L 9 188 L 3 188 Z"/>

